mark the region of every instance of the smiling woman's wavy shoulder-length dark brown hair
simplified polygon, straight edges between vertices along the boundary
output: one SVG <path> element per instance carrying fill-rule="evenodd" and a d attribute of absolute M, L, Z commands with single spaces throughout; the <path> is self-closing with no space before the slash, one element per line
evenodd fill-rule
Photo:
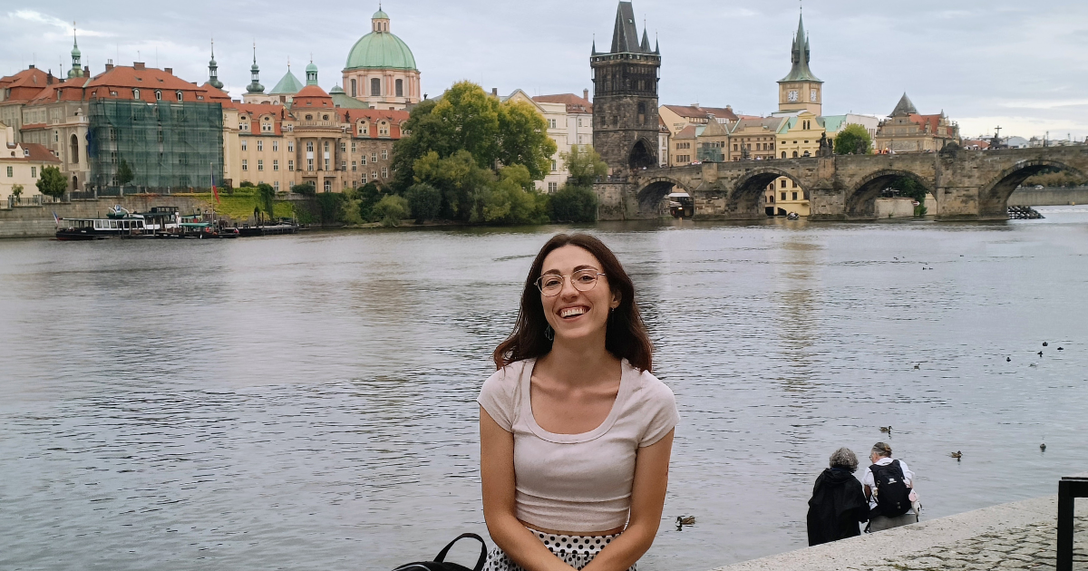
<path fill-rule="evenodd" d="M 601 262 L 601 271 L 608 281 L 608 287 L 619 296 L 619 306 L 608 316 L 605 349 L 617 359 L 627 359 L 631 367 L 640 371 L 652 371 L 654 347 L 634 300 L 634 284 L 616 255 L 603 241 L 589 234 L 556 234 L 541 248 L 521 290 L 521 309 L 518 311 L 514 332 L 492 355 L 495 368 L 502 369 L 516 361 L 541 357 L 552 350 L 552 340 L 544 335 L 547 319 L 544 316 L 536 280 L 541 276 L 544 258 L 564 246 L 578 246 L 592 253 Z"/>

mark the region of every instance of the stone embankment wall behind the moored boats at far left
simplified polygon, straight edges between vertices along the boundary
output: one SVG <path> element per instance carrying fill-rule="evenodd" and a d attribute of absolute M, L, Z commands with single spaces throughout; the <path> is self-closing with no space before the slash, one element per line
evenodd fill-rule
<path fill-rule="evenodd" d="M 0 210 L 0 238 L 39 238 L 53 236 L 57 225 L 53 212 L 60 218 L 104 218 L 106 211 L 121 204 L 132 212 L 146 212 L 151 207 L 177 207 L 183 213 L 195 210 L 211 210 L 206 200 L 183 196 L 133 195 L 99 198 L 97 200 L 74 200 L 41 207 L 15 207 Z"/>

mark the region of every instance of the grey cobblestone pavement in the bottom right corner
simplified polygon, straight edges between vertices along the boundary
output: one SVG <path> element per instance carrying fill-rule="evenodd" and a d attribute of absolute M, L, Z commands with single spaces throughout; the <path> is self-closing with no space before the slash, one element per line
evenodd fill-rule
<path fill-rule="evenodd" d="M 1073 569 L 1088 570 L 1088 517 L 1077 518 L 1075 529 Z M 1023 527 L 985 533 L 948 546 L 900 557 L 894 562 L 868 569 L 871 571 L 1052 570 L 1056 534 L 1054 522 L 1038 522 Z"/>

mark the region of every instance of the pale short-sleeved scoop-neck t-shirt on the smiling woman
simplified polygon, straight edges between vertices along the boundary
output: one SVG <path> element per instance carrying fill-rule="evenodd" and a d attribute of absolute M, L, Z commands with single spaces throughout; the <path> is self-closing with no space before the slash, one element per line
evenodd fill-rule
<path fill-rule="evenodd" d="M 527 359 L 496 371 L 477 399 L 514 434 L 517 518 L 569 532 L 623 526 L 631 511 L 635 452 L 664 438 L 680 421 L 672 390 L 625 360 L 605 421 L 586 433 L 555 434 L 533 418 L 529 387 L 535 362 Z"/>

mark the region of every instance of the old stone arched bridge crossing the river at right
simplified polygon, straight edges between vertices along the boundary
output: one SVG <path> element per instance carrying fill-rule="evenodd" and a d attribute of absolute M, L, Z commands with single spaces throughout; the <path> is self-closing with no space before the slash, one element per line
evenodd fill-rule
<path fill-rule="evenodd" d="M 594 188 L 601 220 L 662 218 L 665 197 L 678 190 L 691 195 L 695 220 L 757 220 L 767 216 L 768 185 L 784 176 L 808 197 L 809 220 L 875 220 L 881 190 L 908 177 L 937 199 L 930 214 L 938 220 L 1003 220 L 1013 190 L 1050 167 L 1085 177 L 1088 146 L 972 151 L 950 144 L 930 153 L 704 162 L 631 170 Z"/>

